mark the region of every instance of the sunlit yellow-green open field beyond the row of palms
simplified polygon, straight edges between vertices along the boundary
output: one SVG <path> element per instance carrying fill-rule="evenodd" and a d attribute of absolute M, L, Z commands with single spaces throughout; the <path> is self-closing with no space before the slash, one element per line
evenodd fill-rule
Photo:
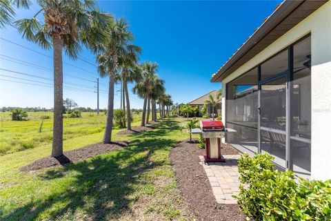
<path fill-rule="evenodd" d="M 14 122 L 11 120 L 10 112 L 0 112 L 0 155 L 49 146 L 52 143 L 52 114 L 29 112 L 28 121 Z M 48 116 L 50 119 L 42 120 L 43 116 Z M 137 114 L 132 117 L 133 123 L 141 119 L 141 115 Z M 72 140 L 85 135 L 102 137 L 105 124 L 104 113 L 98 116 L 96 113 L 86 112 L 82 113 L 80 118 L 64 118 L 63 140 Z M 114 129 L 119 130 L 117 127 Z"/>

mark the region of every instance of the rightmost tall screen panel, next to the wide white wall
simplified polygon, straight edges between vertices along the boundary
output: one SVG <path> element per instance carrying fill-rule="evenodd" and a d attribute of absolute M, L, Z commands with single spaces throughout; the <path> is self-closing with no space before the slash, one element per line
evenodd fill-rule
<path fill-rule="evenodd" d="M 306 177 L 311 156 L 311 48 L 310 37 L 293 46 L 291 93 L 290 168 Z"/>

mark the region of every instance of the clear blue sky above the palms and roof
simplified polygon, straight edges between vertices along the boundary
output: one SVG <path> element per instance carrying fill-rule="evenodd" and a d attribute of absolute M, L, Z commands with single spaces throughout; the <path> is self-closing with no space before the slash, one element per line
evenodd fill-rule
<path fill-rule="evenodd" d="M 172 95 L 174 102 L 186 103 L 221 88 L 220 83 L 210 82 L 211 75 L 252 35 L 279 2 L 99 1 L 99 6 L 116 18 L 128 20 L 134 33 L 134 44 L 143 48 L 141 62 L 157 62 L 158 74 L 165 80 L 167 93 Z M 17 19 L 31 17 L 37 11 L 36 5 L 30 10 L 17 10 Z M 52 51 L 22 39 L 10 26 L 0 32 L 0 79 L 6 79 L 0 80 L 0 106 L 52 107 Z M 98 77 L 95 56 L 83 49 L 80 57 L 77 60 L 63 57 L 66 62 L 63 64 L 66 87 L 63 97 L 74 99 L 79 106 L 95 108 L 97 95 L 93 93 L 93 81 Z M 106 108 L 108 79 L 100 79 L 100 82 L 100 107 Z M 117 85 L 116 90 L 119 88 Z M 119 92 L 115 95 L 115 108 L 120 105 L 119 95 Z M 141 108 L 142 100 L 137 95 L 130 93 L 130 98 L 132 108 Z"/>

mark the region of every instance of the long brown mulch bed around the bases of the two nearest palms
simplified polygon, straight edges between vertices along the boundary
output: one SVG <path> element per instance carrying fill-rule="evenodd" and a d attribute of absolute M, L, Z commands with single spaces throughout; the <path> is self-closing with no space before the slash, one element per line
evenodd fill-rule
<path fill-rule="evenodd" d="M 121 148 L 128 146 L 128 144 L 129 143 L 126 141 L 117 141 L 112 142 L 111 144 L 91 144 L 88 146 L 83 146 L 82 148 L 74 149 L 72 151 L 66 151 L 61 157 L 43 157 L 32 162 L 31 164 L 21 167 L 19 171 L 36 171 L 50 166 L 63 166 L 64 164 L 85 160 L 95 155 L 100 155 L 111 151 L 118 151 Z"/>

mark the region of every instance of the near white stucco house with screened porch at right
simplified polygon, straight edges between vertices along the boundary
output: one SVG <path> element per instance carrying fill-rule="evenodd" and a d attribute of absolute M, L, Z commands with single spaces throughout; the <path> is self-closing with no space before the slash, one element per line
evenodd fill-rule
<path fill-rule="evenodd" d="M 212 75 L 241 152 L 280 169 L 331 178 L 331 1 L 283 1 Z"/>

